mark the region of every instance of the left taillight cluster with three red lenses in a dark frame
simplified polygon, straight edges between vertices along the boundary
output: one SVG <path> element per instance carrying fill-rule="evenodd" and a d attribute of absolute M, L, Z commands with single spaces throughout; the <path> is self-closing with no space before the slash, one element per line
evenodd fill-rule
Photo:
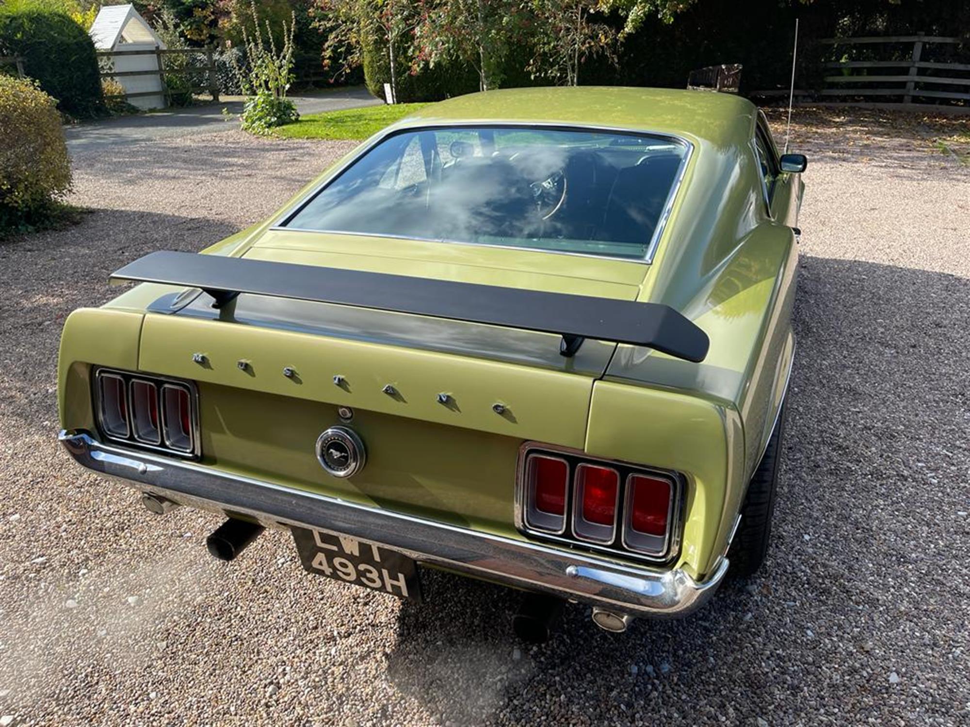
<path fill-rule="evenodd" d="M 186 382 L 99 368 L 94 408 L 110 439 L 183 457 L 198 454 L 195 392 Z"/>

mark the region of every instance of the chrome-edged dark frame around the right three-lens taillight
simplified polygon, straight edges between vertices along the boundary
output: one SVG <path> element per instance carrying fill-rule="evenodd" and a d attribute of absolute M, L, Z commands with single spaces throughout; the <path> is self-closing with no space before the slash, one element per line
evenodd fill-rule
<path fill-rule="evenodd" d="M 564 455 L 582 458 L 584 461 L 603 462 L 604 464 L 613 467 L 620 465 L 630 467 L 631 469 L 644 472 L 646 474 L 671 478 L 676 485 L 676 507 L 673 510 L 670 519 L 670 529 L 666 552 L 663 553 L 663 555 L 651 555 L 649 553 L 640 553 L 638 551 L 622 550 L 617 546 L 617 544 L 604 546 L 599 543 L 591 543 L 588 541 L 577 542 L 572 538 L 567 538 L 562 535 L 552 535 L 550 533 L 541 532 L 531 528 L 525 522 L 523 508 L 525 504 L 525 461 L 528 455 L 533 451 L 538 451 L 544 454 L 558 452 Z M 558 444 L 527 441 L 524 442 L 521 447 L 519 447 L 519 458 L 516 462 L 513 522 L 515 523 L 515 529 L 527 537 L 534 537 L 538 540 L 563 545 L 568 548 L 575 549 L 578 547 L 580 549 L 586 549 L 596 553 L 611 555 L 612 557 L 616 558 L 627 558 L 648 563 L 670 563 L 673 562 L 680 554 L 681 538 L 684 532 L 684 508 L 687 502 L 687 487 L 688 478 L 678 472 L 672 472 L 660 469 L 658 467 L 651 467 L 650 465 L 644 465 L 639 462 L 630 462 L 625 459 L 595 457 L 587 454 L 583 450 L 577 450 L 571 447 L 563 447 Z M 625 496 L 625 494 L 623 496 Z"/>

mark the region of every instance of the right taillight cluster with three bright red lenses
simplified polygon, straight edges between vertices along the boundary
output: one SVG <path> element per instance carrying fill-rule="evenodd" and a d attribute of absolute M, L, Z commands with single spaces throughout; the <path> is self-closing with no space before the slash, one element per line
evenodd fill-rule
<path fill-rule="evenodd" d="M 519 472 L 526 532 L 652 560 L 673 554 L 681 492 L 674 474 L 532 446 Z"/>

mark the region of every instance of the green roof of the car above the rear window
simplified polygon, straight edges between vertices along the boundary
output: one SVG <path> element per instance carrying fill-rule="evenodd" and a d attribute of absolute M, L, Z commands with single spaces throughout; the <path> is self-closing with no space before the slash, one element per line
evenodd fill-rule
<path fill-rule="evenodd" d="M 430 104 L 395 126 L 561 123 L 688 136 L 721 146 L 747 143 L 757 112 L 747 99 L 713 91 L 555 86 L 457 96 Z"/>

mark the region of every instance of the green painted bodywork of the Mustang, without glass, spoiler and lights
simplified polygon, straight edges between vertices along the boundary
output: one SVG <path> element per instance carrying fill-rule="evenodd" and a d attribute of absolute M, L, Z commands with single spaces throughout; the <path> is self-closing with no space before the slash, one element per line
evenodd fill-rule
<path fill-rule="evenodd" d="M 553 123 L 643 130 L 693 147 L 652 264 L 487 245 L 275 229 L 365 142 L 265 222 L 204 252 L 513 288 L 663 302 L 711 339 L 702 364 L 630 346 L 570 372 L 185 315 L 145 314 L 178 288 L 136 286 L 68 319 L 59 404 L 65 428 L 91 428 L 90 364 L 198 382 L 203 463 L 444 522 L 522 538 L 513 524 L 516 456 L 534 439 L 682 472 L 675 564 L 711 573 L 781 405 L 793 355 L 795 224 L 803 187 L 783 174 L 770 210 L 751 146 L 759 114 L 716 93 L 631 88 L 513 89 L 424 108 L 382 132 L 450 123 Z M 119 261 L 119 264 L 122 261 Z M 397 315 L 397 314 L 395 314 Z M 143 327 L 144 320 L 144 327 Z M 110 332 L 110 335 L 106 335 Z M 556 345 L 555 336 L 548 336 Z M 210 367 L 193 364 L 203 352 Z M 252 373 L 236 366 L 253 364 Z M 297 379 L 281 375 L 293 366 Z M 350 390 L 334 386 L 343 373 Z M 395 385 L 403 398 L 381 393 Z M 447 392 L 458 410 L 436 401 Z M 510 415 L 492 411 L 501 401 Z M 369 463 L 351 481 L 313 455 L 319 432 L 352 406 Z"/>

